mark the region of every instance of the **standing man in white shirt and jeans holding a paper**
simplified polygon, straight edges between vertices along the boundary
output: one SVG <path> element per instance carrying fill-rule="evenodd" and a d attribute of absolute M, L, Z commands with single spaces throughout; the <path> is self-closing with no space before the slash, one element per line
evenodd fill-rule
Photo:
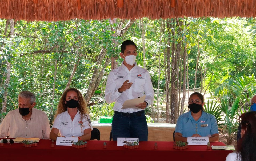
<path fill-rule="evenodd" d="M 115 102 L 112 121 L 113 140 L 118 137 L 138 137 L 139 141 L 147 141 L 148 130 L 144 109 L 151 105 L 154 90 L 149 72 L 136 65 L 137 46 L 131 40 L 121 45 L 121 66 L 109 72 L 105 90 L 107 103 Z M 146 95 L 145 101 L 136 105 L 138 109 L 121 109 L 128 99 Z"/>

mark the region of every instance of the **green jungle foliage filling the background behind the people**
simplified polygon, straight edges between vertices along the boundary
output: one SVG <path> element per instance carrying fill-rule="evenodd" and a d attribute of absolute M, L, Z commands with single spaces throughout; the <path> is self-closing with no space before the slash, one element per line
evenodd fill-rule
<path fill-rule="evenodd" d="M 195 85 L 195 69 L 198 58 L 196 88 L 203 87 L 210 93 L 215 103 L 207 102 L 206 111 L 217 117 L 219 126 L 227 125 L 231 135 L 236 127 L 238 112 L 248 111 L 246 102 L 256 93 L 254 77 L 255 59 L 255 20 L 246 18 L 182 18 L 181 24 L 173 23 L 167 28 L 168 20 L 135 20 L 122 36 L 115 36 L 118 24 L 125 27 L 129 20 L 82 20 L 58 22 L 16 21 L 15 36 L 5 35 L 6 20 L 0 19 L 0 110 L 4 100 L 4 82 L 6 80 L 6 62 L 11 63 L 10 84 L 8 86 L 7 109 L 1 112 L 5 116 L 10 110 L 18 108 L 17 96 L 23 90 L 29 90 L 37 96 L 36 108 L 47 113 L 52 122 L 58 101 L 66 88 L 78 53 L 82 53 L 77 64 L 70 87 L 86 94 L 95 68 L 102 68 L 109 57 L 117 57 L 118 66 L 123 61 L 119 53 L 121 43 L 130 39 L 137 44 L 137 64 L 144 65 L 150 72 L 155 92 L 158 89 L 160 105 L 165 104 L 166 60 L 164 54 L 168 47 L 168 32 L 177 31 L 177 42 L 182 41 L 187 49 L 187 71 L 189 89 Z M 143 53 L 141 23 L 144 24 L 145 48 Z M 171 39 L 172 41 L 172 39 Z M 117 46 L 114 42 L 117 42 Z M 99 53 L 106 49 L 106 56 L 97 64 Z M 145 59 L 143 56 L 145 55 Z M 199 56 L 198 56 L 199 55 Z M 159 66 L 160 61 L 160 66 Z M 181 61 L 182 64 L 182 61 Z M 161 68 L 159 73 L 159 68 Z M 93 120 L 100 116 L 113 115 L 114 103 L 104 100 L 106 79 L 111 71 L 111 62 L 105 68 L 98 88 L 88 106 Z M 181 74 L 182 74 L 181 72 Z M 55 87 L 54 76 L 56 73 Z M 183 83 L 181 79 L 181 84 Z M 203 84 L 202 84 L 203 83 Z M 181 86 L 182 87 L 182 86 Z M 186 82 L 186 88 L 187 82 Z M 181 88 L 182 89 L 182 88 Z M 54 92 L 54 95 L 53 95 Z M 155 93 L 157 95 L 157 93 Z M 155 97 L 156 98 L 156 97 Z M 217 99 L 220 102 L 217 102 Z M 154 107 L 157 107 L 154 100 Z M 246 105 L 246 106 L 245 106 Z M 224 120 L 218 109 L 224 113 Z M 147 107 L 150 115 L 151 108 Z M 149 122 L 153 120 L 148 117 Z M 221 124 L 221 121 L 223 124 Z"/>

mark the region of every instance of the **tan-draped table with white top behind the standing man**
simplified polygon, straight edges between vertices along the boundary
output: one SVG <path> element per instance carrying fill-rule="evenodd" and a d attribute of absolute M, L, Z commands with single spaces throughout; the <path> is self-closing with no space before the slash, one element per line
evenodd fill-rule
<path fill-rule="evenodd" d="M 100 140 L 109 140 L 111 124 L 93 123 L 94 128 L 99 129 L 101 133 Z M 173 132 L 175 124 L 165 123 L 147 123 L 148 141 L 173 141 Z"/>

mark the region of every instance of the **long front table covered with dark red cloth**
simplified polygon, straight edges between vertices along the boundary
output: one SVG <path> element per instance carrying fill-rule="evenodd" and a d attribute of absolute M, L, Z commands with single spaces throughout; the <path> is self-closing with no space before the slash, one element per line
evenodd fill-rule
<path fill-rule="evenodd" d="M 117 141 L 88 141 L 87 147 L 77 149 L 72 146 L 51 147 L 51 140 L 40 140 L 37 147 L 24 147 L 22 143 L 0 146 L 1 161 L 3 160 L 218 160 L 224 161 L 232 151 L 208 150 L 206 145 L 189 145 L 188 149 L 173 149 L 173 142 L 141 141 L 139 148 L 126 149 L 117 146 Z M 224 145 L 213 142 L 211 145 Z"/>

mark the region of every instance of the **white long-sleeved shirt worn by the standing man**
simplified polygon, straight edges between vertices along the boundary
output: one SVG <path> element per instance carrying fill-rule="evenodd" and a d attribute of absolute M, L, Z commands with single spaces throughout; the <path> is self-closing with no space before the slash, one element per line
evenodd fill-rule
<path fill-rule="evenodd" d="M 123 82 L 129 80 L 132 82 L 131 88 L 119 93 L 117 90 L 123 85 Z M 137 112 L 142 109 L 127 108 L 121 109 L 127 99 L 134 99 L 146 95 L 145 101 L 148 106 L 153 103 L 154 90 L 150 79 L 150 74 L 135 64 L 129 71 L 125 65 L 122 65 L 109 72 L 105 90 L 105 100 L 107 103 L 115 102 L 114 111 L 119 112 Z"/>

